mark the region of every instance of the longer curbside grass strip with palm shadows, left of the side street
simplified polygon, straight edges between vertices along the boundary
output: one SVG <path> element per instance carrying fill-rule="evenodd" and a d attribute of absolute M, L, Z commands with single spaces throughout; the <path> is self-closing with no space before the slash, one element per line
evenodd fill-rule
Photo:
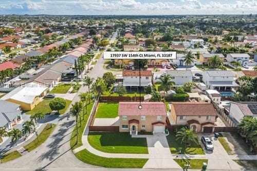
<path fill-rule="evenodd" d="M 40 135 L 38 136 L 38 138 L 34 139 L 29 144 L 25 145 L 24 148 L 30 152 L 36 147 L 43 144 L 52 133 L 54 127 L 56 127 L 56 125 L 52 124 L 52 127 L 51 127 L 50 124 L 47 124 L 45 128 L 42 130 L 42 132 L 40 133 Z"/>

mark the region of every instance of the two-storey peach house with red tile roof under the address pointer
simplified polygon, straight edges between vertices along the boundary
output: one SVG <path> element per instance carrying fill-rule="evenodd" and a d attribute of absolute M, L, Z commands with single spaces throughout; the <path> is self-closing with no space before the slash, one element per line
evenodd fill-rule
<path fill-rule="evenodd" d="M 141 109 L 139 109 L 141 105 Z M 119 102 L 119 130 L 138 134 L 139 131 L 164 133 L 167 111 L 163 102 Z"/>

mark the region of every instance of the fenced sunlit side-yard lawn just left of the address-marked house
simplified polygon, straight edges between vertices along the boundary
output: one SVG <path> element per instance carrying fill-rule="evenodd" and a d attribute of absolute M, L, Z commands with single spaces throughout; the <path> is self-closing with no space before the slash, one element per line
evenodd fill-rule
<path fill-rule="evenodd" d="M 116 118 L 118 117 L 118 102 L 99 103 L 96 118 Z"/>

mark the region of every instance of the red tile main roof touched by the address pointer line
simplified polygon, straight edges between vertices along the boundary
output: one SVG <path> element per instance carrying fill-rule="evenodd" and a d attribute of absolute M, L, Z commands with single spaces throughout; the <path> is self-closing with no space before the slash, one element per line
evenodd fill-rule
<path fill-rule="evenodd" d="M 119 116 L 167 116 L 166 106 L 162 102 L 141 102 L 141 109 L 138 108 L 139 104 L 139 102 L 120 102 Z"/>

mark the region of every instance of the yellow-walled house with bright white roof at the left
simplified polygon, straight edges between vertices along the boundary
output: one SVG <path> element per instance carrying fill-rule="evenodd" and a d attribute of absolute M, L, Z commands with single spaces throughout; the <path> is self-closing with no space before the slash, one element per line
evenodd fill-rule
<path fill-rule="evenodd" d="M 47 91 L 47 86 L 31 82 L 15 88 L 6 94 L 2 100 L 20 104 L 22 110 L 32 110 L 40 103 L 40 98 L 44 97 Z"/>

